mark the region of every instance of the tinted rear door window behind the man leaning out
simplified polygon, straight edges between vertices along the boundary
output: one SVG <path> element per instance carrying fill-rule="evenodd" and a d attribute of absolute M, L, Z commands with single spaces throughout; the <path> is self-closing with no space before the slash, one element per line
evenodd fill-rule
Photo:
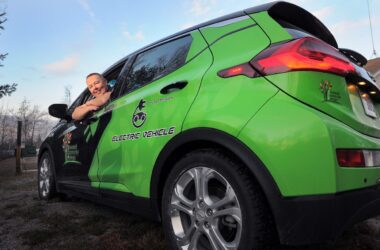
<path fill-rule="evenodd" d="M 127 92 L 157 80 L 186 62 L 191 36 L 185 36 L 139 54 L 127 75 Z"/>

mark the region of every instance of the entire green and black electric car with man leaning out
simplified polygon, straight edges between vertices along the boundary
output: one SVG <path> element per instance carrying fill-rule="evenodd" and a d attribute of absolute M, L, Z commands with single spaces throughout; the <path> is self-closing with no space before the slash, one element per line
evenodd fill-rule
<path fill-rule="evenodd" d="M 366 59 L 286 2 L 186 29 L 103 76 L 111 100 L 68 108 L 39 151 L 38 190 L 161 221 L 173 249 L 333 239 L 380 214 L 380 94 Z"/>

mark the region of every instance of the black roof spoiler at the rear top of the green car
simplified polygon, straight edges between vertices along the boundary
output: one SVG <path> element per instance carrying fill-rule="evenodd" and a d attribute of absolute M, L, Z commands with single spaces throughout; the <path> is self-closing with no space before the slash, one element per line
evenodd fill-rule
<path fill-rule="evenodd" d="M 276 21 L 285 21 L 338 49 L 338 44 L 329 29 L 318 18 L 301 7 L 287 2 L 271 2 L 244 10 L 246 14 L 267 11 Z"/>

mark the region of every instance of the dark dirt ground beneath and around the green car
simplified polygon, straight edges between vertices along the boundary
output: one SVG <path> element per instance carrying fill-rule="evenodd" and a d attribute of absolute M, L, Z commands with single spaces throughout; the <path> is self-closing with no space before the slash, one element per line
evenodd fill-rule
<path fill-rule="evenodd" d="M 0 249 L 166 249 L 160 224 L 79 199 L 38 199 L 36 159 L 0 161 Z M 380 249 L 380 217 L 322 245 L 281 249 Z"/>

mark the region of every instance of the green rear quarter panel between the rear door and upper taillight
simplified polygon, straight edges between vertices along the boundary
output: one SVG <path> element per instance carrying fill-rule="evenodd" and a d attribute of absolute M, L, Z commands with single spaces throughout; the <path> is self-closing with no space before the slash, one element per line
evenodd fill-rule
<path fill-rule="evenodd" d="M 222 79 L 218 76 L 221 69 L 247 62 L 269 46 L 270 41 L 260 27 L 244 25 L 243 29 L 235 25 L 235 32 L 228 26 L 227 31 L 221 32 L 227 35 L 211 44 L 214 63 L 203 78 L 198 97 L 184 122 L 184 130 L 206 127 L 236 136 L 246 122 L 278 91 L 263 78 L 252 80 L 238 76 Z M 206 38 L 208 32 L 215 37 L 215 28 L 202 29 L 201 32 Z M 252 44 L 256 46 L 252 48 Z"/>

